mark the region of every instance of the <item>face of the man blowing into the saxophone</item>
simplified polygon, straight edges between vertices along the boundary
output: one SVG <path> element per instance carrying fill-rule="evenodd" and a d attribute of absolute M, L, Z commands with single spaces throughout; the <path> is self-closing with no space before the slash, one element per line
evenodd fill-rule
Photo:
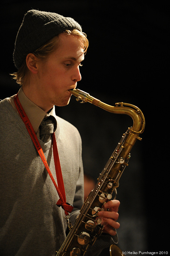
<path fill-rule="evenodd" d="M 68 91 L 81 80 L 79 67 L 84 60 L 83 43 L 79 36 L 59 35 L 58 48 L 45 62 L 39 62 L 38 91 L 44 104 L 66 106 L 71 97 Z"/>

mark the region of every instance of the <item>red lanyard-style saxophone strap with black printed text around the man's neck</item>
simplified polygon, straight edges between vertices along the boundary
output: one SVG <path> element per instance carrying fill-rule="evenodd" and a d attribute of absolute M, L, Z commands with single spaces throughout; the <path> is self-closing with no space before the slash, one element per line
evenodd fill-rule
<path fill-rule="evenodd" d="M 56 142 L 55 134 L 54 133 L 52 134 L 52 146 L 53 146 L 54 164 L 55 164 L 55 169 L 56 169 L 58 186 L 57 186 L 56 181 L 54 180 L 54 177 L 52 176 L 50 168 L 47 164 L 47 161 L 46 161 L 44 153 L 43 153 L 43 149 L 41 148 L 41 145 L 38 141 L 36 133 L 27 117 L 27 114 L 25 113 L 24 109 L 21 106 L 21 103 L 18 98 L 18 94 L 15 96 L 14 102 L 15 102 L 15 106 L 18 109 L 19 115 L 20 115 L 22 121 L 24 122 L 24 124 L 27 128 L 27 131 L 35 145 L 35 148 L 37 149 L 38 154 L 40 155 L 40 157 L 43 161 L 43 164 L 44 164 L 45 168 L 47 169 L 47 172 L 49 173 L 50 178 L 57 190 L 57 193 L 59 196 L 57 206 L 59 206 L 59 207 L 61 206 L 65 210 L 65 214 L 69 215 L 68 212 L 71 212 L 73 210 L 73 206 L 71 204 L 66 203 L 66 193 L 65 193 L 65 188 L 64 188 L 63 176 L 62 176 L 62 172 L 61 172 L 60 160 L 59 160 L 59 156 L 58 156 L 58 149 L 57 149 L 57 142 Z"/>

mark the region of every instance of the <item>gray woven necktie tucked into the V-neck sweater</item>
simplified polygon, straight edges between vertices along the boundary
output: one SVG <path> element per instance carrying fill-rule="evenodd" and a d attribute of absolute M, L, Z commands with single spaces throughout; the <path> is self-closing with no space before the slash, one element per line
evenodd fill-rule
<path fill-rule="evenodd" d="M 43 120 L 39 126 L 40 128 L 40 139 L 44 143 L 50 141 L 51 134 L 54 132 L 54 123 L 51 119 L 47 118 Z"/>

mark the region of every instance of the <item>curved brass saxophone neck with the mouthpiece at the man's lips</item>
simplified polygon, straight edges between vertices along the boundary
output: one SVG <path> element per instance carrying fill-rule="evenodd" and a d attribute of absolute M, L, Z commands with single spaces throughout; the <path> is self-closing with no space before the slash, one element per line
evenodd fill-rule
<path fill-rule="evenodd" d="M 145 119 L 142 111 L 136 106 L 128 103 L 123 103 L 123 102 L 116 103 L 115 106 L 111 106 L 90 96 L 89 93 L 81 91 L 80 89 L 73 89 L 73 90 L 70 90 L 70 92 L 75 97 L 77 97 L 78 100 L 81 100 L 81 103 L 89 102 L 94 104 L 97 107 L 103 108 L 108 112 L 115 113 L 115 114 L 125 114 L 130 116 L 133 119 L 133 126 L 132 128 L 130 128 L 131 131 L 138 134 L 144 131 Z"/>

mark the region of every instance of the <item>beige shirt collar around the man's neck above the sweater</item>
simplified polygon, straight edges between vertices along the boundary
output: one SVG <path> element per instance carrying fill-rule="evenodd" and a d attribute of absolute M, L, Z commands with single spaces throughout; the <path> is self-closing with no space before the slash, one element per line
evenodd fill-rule
<path fill-rule="evenodd" d="M 19 97 L 19 101 L 20 101 L 22 107 L 24 108 L 24 110 L 28 116 L 28 119 L 29 119 L 30 123 L 32 124 L 34 131 L 38 138 L 40 138 L 39 126 L 40 126 L 41 122 L 43 121 L 43 119 L 48 116 L 53 116 L 55 118 L 56 124 L 54 124 L 54 131 L 56 130 L 57 119 L 56 119 L 56 113 L 55 113 L 55 106 L 53 106 L 50 113 L 47 114 L 42 108 L 39 108 L 35 103 L 33 103 L 31 100 L 29 100 L 27 98 L 27 96 L 25 95 L 25 93 L 22 90 L 22 87 L 19 89 L 18 97 Z M 12 107 L 15 109 L 15 111 L 18 113 L 18 110 L 14 103 L 14 98 L 15 98 L 15 95 L 8 98 L 8 100 L 11 103 Z M 19 113 L 18 113 L 18 115 L 19 115 Z"/>

